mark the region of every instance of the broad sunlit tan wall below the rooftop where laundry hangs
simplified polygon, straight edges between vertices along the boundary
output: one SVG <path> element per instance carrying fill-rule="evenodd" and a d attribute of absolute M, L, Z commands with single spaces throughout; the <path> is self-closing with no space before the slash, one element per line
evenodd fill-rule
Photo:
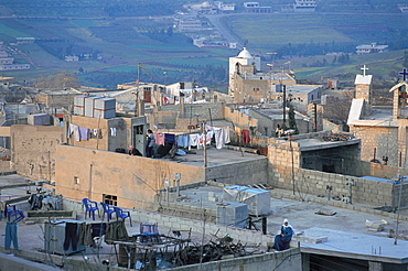
<path fill-rule="evenodd" d="M 181 173 L 181 185 L 205 181 L 198 166 L 72 145 L 57 145 L 55 160 L 56 193 L 96 202 L 112 195 L 128 208 L 153 209 L 157 189 L 174 173 Z"/>

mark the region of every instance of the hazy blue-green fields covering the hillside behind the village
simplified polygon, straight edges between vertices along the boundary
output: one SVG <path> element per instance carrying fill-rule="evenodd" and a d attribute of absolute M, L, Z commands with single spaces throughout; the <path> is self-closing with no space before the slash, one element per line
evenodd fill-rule
<path fill-rule="evenodd" d="M 243 10 L 240 3 L 244 1 L 235 2 L 237 9 Z M 291 2 L 271 0 L 262 4 L 275 7 Z M 335 8 L 335 13 L 239 14 L 225 17 L 222 22 L 238 41 L 246 42 L 253 54 L 262 57 L 264 65 L 271 62 L 266 53 L 284 52 L 289 45 L 299 50 L 303 45 L 309 48 L 324 44 L 328 48 L 352 52 L 351 48 L 363 43 L 389 44 L 395 52 L 353 55 L 342 65 L 330 65 L 330 56 L 297 56 L 291 59 L 291 69 L 298 78 L 344 77 L 344 74 L 358 72 L 363 64 L 371 65 L 371 72 L 379 78 L 401 68 L 404 50 L 408 48 L 408 17 L 398 13 L 396 7 L 405 2 L 408 3 L 407 0 L 388 0 L 386 3 L 380 0 L 326 0 L 319 4 L 319 10 L 328 12 Z M 8 43 L 15 42 L 19 36 L 33 36 L 37 42 L 18 45 L 24 55 L 13 56 L 19 63 L 28 63 L 28 55 L 34 63 L 33 69 L 3 72 L 1 75 L 32 80 L 67 71 L 77 74 L 84 85 L 115 87 L 124 80 L 133 80 L 137 65 L 141 63 L 158 83 L 197 79 L 202 84 L 212 84 L 216 80 L 226 87 L 228 57 L 235 56 L 238 50 L 198 48 L 185 35 L 172 30 L 172 20 L 148 19 L 149 15 L 174 14 L 183 3 L 185 1 L 180 0 L 152 0 L 149 4 L 139 0 L 3 0 L 0 15 L 17 17 L 0 19 L 0 40 Z M 135 11 L 135 7 L 139 10 Z M 154 12 L 157 7 L 162 8 Z M 356 7 L 364 7 L 364 12 L 356 12 Z M 387 13 L 379 14 L 380 11 Z M 67 63 L 63 56 L 69 54 L 92 54 L 95 57 Z M 283 53 L 277 56 L 277 67 L 288 62 L 287 58 L 280 59 L 282 56 Z M 323 59 L 329 64 L 312 66 Z M 216 69 L 216 74 L 208 74 L 211 69 Z M 79 71 L 85 73 L 78 74 Z M 143 73 L 140 79 L 151 80 Z"/>

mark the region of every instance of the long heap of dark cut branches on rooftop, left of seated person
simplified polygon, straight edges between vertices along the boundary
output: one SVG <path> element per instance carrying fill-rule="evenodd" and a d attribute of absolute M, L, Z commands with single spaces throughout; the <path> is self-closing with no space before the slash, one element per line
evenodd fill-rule
<path fill-rule="evenodd" d="M 247 247 L 240 241 L 234 242 L 229 236 L 216 237 L 203 246 L 186 246 L 180 250 L 174 261 L 178 265 L 194 264 L 221 260 L 223 257 L 243 257 L 258 252 L 254 247 Z M 202 258 L 202 259 L 201 259 Z"/>

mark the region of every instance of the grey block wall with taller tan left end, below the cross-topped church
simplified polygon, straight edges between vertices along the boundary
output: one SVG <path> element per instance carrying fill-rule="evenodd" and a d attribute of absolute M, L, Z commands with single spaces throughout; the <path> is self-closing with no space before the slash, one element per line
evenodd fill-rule
<path fill-rule="evenodd" d="M 374 206 L 389 205 L 396 207 L 399 198 L 399 184 L 379 182 L 358 176 L 377 176 L 390 180 L 398 173 L 405 175 L 406 171 L 397 167 L 385 166 L 374 163 L 358 162 L 354 159 L 355 150 L 350 148 L 337 148 L 340 154 L 347 161 L 344 166 L 346 173 L 334 174 L 322 171 L 301 169 L 299 161 L 299 147 L 292 142 L 269 145 L 268 159 L 270 161 L 270 184 L 275 187 L 294 189 L 297 194 L 328 195 L 328 186 L 332 186 L 332 196 L 347 197 L 350 195 L 346 181 L 354 181 L 352 186 L 352 202 L 369 204 Z M 336 149 L 336 150 L 337 150 Z M 350 151 L 350 155 L 347 152 Z M 293 154 L 293 159 L 292 159 Z M 340 155 L 339 154 L 339 155 Z M 356 176 L 357 175 L 357 176 Z M 408 184 L 402 186 L 401 206 L 408 205 Z"/>

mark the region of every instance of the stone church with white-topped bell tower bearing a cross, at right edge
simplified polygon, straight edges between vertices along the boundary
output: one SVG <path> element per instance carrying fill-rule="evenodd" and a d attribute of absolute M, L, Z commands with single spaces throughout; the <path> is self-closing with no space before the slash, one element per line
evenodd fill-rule
<path fill-rule="evenodd" d="M 347 120 L 350 131 L 362 139 L 362 160 L 407 167 L 408 83 L 401 80 L 389 90 L 394 93 L 393 107 L 375 107 L 371 102 L 371 79 L 365 72 L 356 77 L 356 98 Z"/>

